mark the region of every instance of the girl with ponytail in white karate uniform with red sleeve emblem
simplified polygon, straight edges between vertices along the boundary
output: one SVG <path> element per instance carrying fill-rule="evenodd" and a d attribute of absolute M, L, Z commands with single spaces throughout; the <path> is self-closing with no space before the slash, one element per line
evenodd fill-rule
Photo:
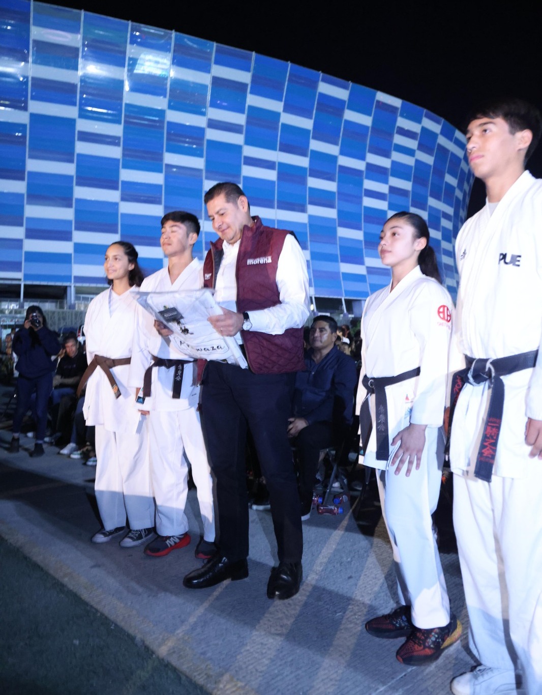
<path fill-rule="evenodd" d="M 397 659 L 422 664 L 461 635 L 461 623 L 450 614 L 431 518 L 441 483 L 443 445 L 438 443 L 439 437 L 443 443 L 439 430 L 453 304 L 419 215 L 393 215 L 378 250 L 392 279 L 368 298 L 363 311 L 356 402 L 361 404 L 361 461 L 377 469 L 402 605 L 368 621 L 366 629 L 375 637 L 407 637 Z"/>

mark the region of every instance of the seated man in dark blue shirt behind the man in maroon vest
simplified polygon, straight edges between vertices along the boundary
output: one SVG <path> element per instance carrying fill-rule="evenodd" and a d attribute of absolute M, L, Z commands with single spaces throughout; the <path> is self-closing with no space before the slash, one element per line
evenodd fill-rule
<path fill-rule="evenodd" d="M 335 346 L 337 322 L 316 316 L 305 370 L 295 377 L 293 417 L 288 436 L 298 450 L 302 519 L 311 514 L 320 450 L 342 445 L 352 425 L 356 363 Z"/>

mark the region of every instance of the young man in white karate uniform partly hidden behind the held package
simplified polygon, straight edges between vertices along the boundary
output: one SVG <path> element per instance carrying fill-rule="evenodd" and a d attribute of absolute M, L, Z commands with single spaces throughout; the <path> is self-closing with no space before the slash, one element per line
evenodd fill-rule
<path fill-rule="evenodd" d="M 167 268 L 145 278 L 142 292 L 198 290 L 203 284 L 203 264 L 192 258 L 192 248 L 199 235 L 195 215 L 171 212 L 161 221 L 160 245 L 167 257 Z M 172 332 L 143 309 L 138 312 L 134 334 L 130 385 L 139 391 L 145 372 L 151 369 L 151 395 L 141 409 L 149 411 L 151 480 L 156 501 L 158 537 L 145 548 L 145 554 L 163 557 L 190 543 L 188 520 L 184 513 L 188 493 L 188 464 L 197 487 L 199 512 L 204 535 L 196 546 L 195 556 L 209 559 L 215 553 L 213 485 L 207 461 L 202 427 L 199 420 L 199 387 L 196 385 L 196 362 L 170 343 Z M 171 365 L 171 362 L 177 361 Z M 179 361 L 188 361 L 181 364 Z M 154 366 L 153 366 L 154 365 Z M 174 388 L 181 379 L 180 393 Z"/>

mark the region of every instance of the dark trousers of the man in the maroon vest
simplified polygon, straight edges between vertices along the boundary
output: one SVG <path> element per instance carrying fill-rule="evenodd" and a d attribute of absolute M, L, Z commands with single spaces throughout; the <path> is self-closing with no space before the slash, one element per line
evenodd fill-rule
<path fill-rule="evenodd" d="M 279 562 L 301 562 L 301 509 L 286 434 L 294 381 L 295 374 L 254 374 L 222 362 L 206 365 L 202 420 L 216 477 L 220 552 L 232 562 L 249 553 L 247 427 L 268 486 Z"/>

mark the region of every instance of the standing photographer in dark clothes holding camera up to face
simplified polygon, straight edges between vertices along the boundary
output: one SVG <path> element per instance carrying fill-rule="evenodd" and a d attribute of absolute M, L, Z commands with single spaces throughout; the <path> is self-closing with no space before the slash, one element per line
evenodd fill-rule
<path fill-rule="evenodd" d="M 62 346 L 56 334 L 47 328 L 47 320 L 39 306 L 33 304 L 26 309 L 24 326 L 13 337 L 13 352 L 19 358 L 16 369 L 17 407 L 13 416 L 13 436 L 8 451 L 19 452 L 21 423 L 28 411 L 31 395 L 35 392 L 36 432 L 31 456 L 43 456 L 43 440 L 47 425 L 47 402 L 53 390 L 53 373 L 56 360 L 53 358 Z"/>

